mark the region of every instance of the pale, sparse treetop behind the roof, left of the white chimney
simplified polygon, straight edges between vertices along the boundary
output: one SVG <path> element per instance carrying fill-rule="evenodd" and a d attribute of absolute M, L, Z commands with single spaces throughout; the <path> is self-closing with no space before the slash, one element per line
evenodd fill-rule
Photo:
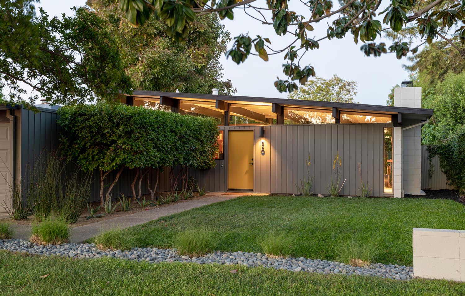
<path fill-rule="evenodd" d="M 288 99 L 355 103 L 357 82 L 340 78 L 334 74 L 330 79 L 316 77 L 300 86 L 298 91 L 290 93 Z M 358 102 L 357 102 L 358 103 Z"/>

